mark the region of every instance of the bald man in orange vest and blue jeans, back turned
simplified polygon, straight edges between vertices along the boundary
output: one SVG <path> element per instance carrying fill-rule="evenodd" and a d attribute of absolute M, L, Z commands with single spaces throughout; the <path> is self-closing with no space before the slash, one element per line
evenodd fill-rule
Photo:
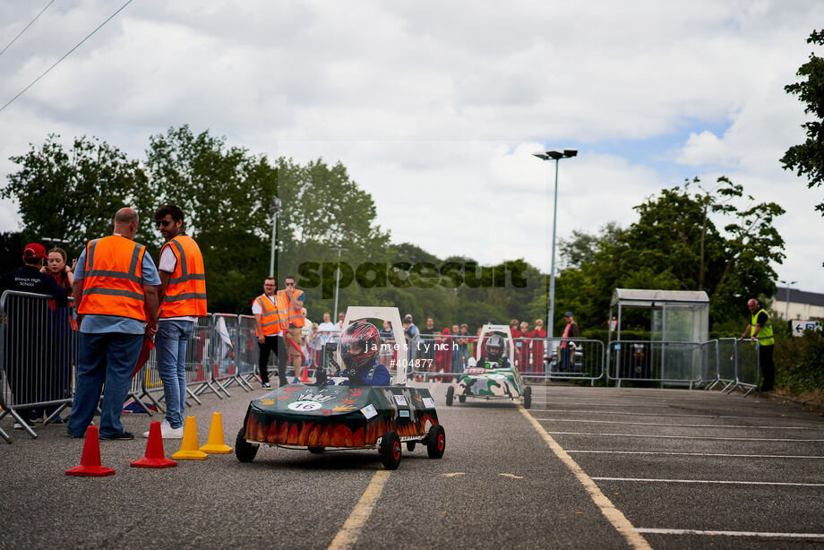
<path fill-rule="evenodd" d="M 133 439 L 123 429 L 120 415 L 144 334 L 158 322 L 160 284 L 146 247 L 132 240 L 137 224 L 137 212 L 120 209 L 114 235 L 90 241 L 77 260 L 73 294 L 80 304 L 80 337 L 72 414 L 66 426 L 73 437 L 86 434 L 102 392 L 100 439 Z"/>

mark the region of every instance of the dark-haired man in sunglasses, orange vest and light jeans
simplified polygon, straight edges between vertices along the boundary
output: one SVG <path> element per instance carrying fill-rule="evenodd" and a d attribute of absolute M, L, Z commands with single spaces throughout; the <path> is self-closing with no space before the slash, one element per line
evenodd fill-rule
<path fill-rule="evenodd" d="M 206 271 L 201 249 L 184 232 L 183 211 L 174 204 L 155 212 L 155 223 L 166 244 L 160 249 L 160 313 L 155 334 L 158 373 L 163 382 L 166 420 L 164 439 L 183 438 L 186 405 L 186 344 L 194 322 L 206 315 Z M 145 432 L 143 437 L 149 437 Z"/>

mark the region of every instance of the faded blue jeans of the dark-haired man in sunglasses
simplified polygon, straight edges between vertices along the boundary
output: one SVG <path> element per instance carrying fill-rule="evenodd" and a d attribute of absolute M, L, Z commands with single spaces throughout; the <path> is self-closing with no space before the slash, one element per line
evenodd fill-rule
<path fill-rule="evenodd" d="M 158 372 L 163 382 L 166 420 L 173 428 L 183 426 L 186 406 L 186 343 L 192 335 L 191 321 L 163 321 L 155 335 Z"/>

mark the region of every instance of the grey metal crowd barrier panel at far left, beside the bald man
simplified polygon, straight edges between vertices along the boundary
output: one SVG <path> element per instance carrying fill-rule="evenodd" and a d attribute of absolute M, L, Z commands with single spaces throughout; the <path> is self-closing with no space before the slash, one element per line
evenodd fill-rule
<path fill-rule="evenodd" d="M 30 434 L 33 408 L 49 418 L 71 405 L 77 335 L 70 307 L 51 296 L 6 290 L 0 296 L 0 418 L 11 415 Z"/>

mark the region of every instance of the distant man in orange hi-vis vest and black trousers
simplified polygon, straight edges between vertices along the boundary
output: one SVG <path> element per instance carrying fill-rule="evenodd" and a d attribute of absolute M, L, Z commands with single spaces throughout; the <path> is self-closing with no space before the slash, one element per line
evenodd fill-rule
<path fill-rule="evenodd" d="M 288 328 L 286 310 L 280 296 L 276 292 L 278 284 L 274 277 L 267 277 L 263 281 L 263 294 L 254 298 L 252 314 L 254 315 L 254 330 L 258 337 L 260 356 L 258 357 L 258 371 L 263 388 L 271 388 L 269 382 L 269 356 L 275 352 L 278 359 L 278 379 L 280 386 L 287 384 L 286 363 L 287 353 L 282 334 Z"/>

